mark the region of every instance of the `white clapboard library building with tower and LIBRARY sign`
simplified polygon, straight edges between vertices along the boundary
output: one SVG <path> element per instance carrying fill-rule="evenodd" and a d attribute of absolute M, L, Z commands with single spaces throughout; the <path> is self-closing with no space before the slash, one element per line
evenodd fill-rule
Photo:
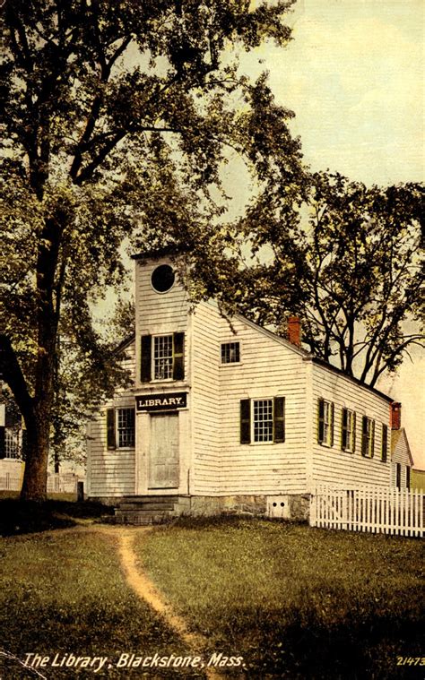
<path fill-rule="evenodd" d="M 171 256 L 134 260 L 135 337 L 119 348 L 134 384 L 89 425 L 89 497 L 122 521 L 299 518 L 317 484 L 392 484 L 399 404 L 302 349 L 297 319 L 284 340 L 213 301 L 191 310 Z"/>

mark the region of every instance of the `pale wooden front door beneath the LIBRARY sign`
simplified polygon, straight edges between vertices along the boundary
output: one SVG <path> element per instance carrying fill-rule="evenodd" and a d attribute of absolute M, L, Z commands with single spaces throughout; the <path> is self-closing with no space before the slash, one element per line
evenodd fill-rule
<path fill-rule="evenodd" d="M 179 446 L 178 413 L 151 414 L 148 487 L 178 488 Z"/>

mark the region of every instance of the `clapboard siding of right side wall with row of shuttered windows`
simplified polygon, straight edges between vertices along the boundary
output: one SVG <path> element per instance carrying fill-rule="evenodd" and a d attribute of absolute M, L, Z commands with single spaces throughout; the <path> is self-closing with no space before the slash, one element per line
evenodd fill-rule
<path fill-rule="evenodd" d="M 313 420 L 312 481 L 320 484 L 376 484 L 390 483 L 390 446 L 388 441 L 387 461 L 381 461 L 382 426 L 389 428 L 389 400 L 376 392 L 360 386 L 343 374 L 325 366 L 313 365 L 313 403 L 310 414 Z M 317 401 L 323 398 L 334 402 L 334 446 L 317 443 Z M 356 450 L 342 450 L 343 408 L 356 413 Z M 372 459 L 361 455 L 362 417 L 375 421 L 375 446 Z M 389 440 L 389 430 L 388 430 Z"/>

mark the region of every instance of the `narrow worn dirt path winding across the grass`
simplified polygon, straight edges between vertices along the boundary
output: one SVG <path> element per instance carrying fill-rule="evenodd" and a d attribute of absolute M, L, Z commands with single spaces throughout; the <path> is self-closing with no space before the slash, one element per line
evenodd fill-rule
<path fill-rule="evenodd" d="M 137 529 L 140 531 L 150 529 Z M 139 598 L 144 599 L 158 614 L 162 615 L 166 623 L 172 628 L 185 642 L 189 649 L 196 654 L 201 654 L 207 645 L 207 640 L 203 635 L 191 633 L 187 624 L 181 616 L 175 614 L 172 608 L 162 598 L 160 592 L 155 588 L 149 577 L 137 568 L 136 555 L 134 553 L 134 529 L 121 529 L 119 532 L 119 554 L 123 565 L 126 581 L 134 590 Z M 220 680 L 224 678 L 219 671 L 214 668 L 204 668 L 205 675 L 210 680 Z"/>

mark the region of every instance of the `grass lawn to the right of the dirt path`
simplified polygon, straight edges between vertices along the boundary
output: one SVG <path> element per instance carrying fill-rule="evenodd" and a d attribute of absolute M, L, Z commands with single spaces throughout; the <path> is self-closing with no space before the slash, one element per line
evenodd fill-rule
<path fill-rule="evenodd" d="M 182 520 L 140 537 L 137 551 L 212 650 L 244 656 L 248 677 L 425 676 L 397 666 L 425 657 L 418 539 Z"/>

